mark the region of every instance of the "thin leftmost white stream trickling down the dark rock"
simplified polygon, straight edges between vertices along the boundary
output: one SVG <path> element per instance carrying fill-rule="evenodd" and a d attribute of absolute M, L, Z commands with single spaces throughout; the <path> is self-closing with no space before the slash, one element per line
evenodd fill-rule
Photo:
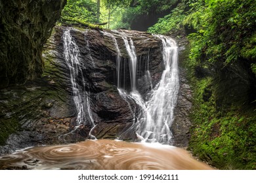
<path fill-rule="evenodd" d="M 64 58 L 70 69 L 70 82 L 72 84 L 73 99 L 77 110 L 75 125 L 90 125 L 93 127 L 95 124 L 91 114 L 89 93 L 85 90 L 86 80 L 83 76 L 85 66 L 79 59 L 79 48 L 75 44 L 74 39 L 72 39 L 70 29 L 64 32 L 63 41 Z"/>

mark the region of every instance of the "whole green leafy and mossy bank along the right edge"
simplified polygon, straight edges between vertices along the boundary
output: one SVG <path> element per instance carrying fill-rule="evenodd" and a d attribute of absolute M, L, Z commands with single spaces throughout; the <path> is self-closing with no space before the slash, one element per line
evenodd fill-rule
<path fill-rule="evenodd" d="M 192 68 L 192 72 L 200 67 L 216 74 L 203 78 L 194 75 L 192 78 L 194 125 L 189 148 L 200 159 L 219 169 L 256 169 L 256 137 L 253 133 L 256 130 L 255 101 L 251 101 L 250 105 L 232 101 L 224 106 L 224 101 L 228 101 L 226 99 L 217 104 L 217 99 L 224 95 L 218 91 L 225 87 L 219 83 L 236 85 L 230 83 L 231 78 L 225 77 L 225 74 L 230 76 L 230 73 L 238 73 L 232 70 L 236 68 L 232 65 L 247 65 L 244 66 L 247 73 L 256 73 L 256 2 L 188 0 L 186 5 L 190 8 L 185 12 L 183 24 L 194 30 L 188 35 L 188 67 Z M 227 72 L 215 71 L 215 68 Z M 223 73 L 221 77 L 219 73 Z"/>

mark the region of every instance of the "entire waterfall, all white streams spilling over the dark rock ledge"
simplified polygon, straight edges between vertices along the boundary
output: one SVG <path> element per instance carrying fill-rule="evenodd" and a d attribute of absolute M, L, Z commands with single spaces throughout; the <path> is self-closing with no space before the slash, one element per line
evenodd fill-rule
<path fill-rule="evenodd" d="M 170 128 L 174 120 L 173 113 L 179 92 L 178 48 L 176 42 L 162 35 L 154 36 L 155 40 L 161 42 L 164 69 L 160 81 L 153 87 L 150 73 L 150 50 L 148 50 L 148 55 L 144 59 L 144 65 L 142 65 L 141 56 L 140 59 L 137 58 L 135 44 L 129 35 L 123 31 L 112 31 L 112 33 L 101 31 L 101 33 L 110 37 L 114 48 L 116 48 L 117 90 L 133 114 L 133 125 L 126 132 L 135 132 L 137 137 L 145 142 L 171 144 L 173 135 Z M 86 35 L 87 31 L 85 32 L 85 47 L 89 50 L 89 61 L 95 67 Z M 119 41 L 117 41 L 117 38 Z M 89 124 L 93 127 L 95 124 L 90 109 L 89 93 L 85 90 L 87 81 L 83 76 L 85 75 L 83 73 L 85 72 L 85 65 L 79 59 L 79 48 L 74 39 L 72 39 L 70 30 L 65 31 L 63 39 L 64 56 L 70 69 L 72 92 L 77 110 L 77 125 Z M 121 44 L 125 48 L 124 50 L 122 49 L 123 53 L 119 48 L 122 45 L 118 45 L 120 41 L 123 42 Z M 129 71 L 125 71 L 127 69 L 126 64 L 129 66 Z M 140 71 L 142 68 L 144 68 L 144 71 Z M 131 88 L 126 88 L 129 86 L 125 84 L 125 79 L 127 78 L 125 75 L 127 73 L 130 76 Z M 144 81 L 148 84 L 148 90 L 150 91 L 146 93 L 146 97 L 143 97 L 137 90 L 138 73 L 144 75 Z M 92 130 L 93 128 L 91 128 Z"/>

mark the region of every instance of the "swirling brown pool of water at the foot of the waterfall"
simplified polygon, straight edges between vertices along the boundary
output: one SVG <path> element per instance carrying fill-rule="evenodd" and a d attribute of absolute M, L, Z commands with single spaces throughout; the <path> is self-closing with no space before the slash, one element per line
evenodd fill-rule
<path fill-rule="evenodd" d="M 213 169 L 174 146 L 106 139 L 37 146 L 0 158 L 0 169 L 24 165 L 27 169 Z"/>

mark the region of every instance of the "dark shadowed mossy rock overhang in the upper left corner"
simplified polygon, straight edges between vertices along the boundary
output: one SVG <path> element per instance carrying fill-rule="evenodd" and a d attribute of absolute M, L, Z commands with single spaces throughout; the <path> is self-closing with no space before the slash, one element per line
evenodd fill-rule
<path fill-rule="evenodd" d="M 43 73 L 41 52 L 66 0 L 0 1 L 0 88 Z"/>

